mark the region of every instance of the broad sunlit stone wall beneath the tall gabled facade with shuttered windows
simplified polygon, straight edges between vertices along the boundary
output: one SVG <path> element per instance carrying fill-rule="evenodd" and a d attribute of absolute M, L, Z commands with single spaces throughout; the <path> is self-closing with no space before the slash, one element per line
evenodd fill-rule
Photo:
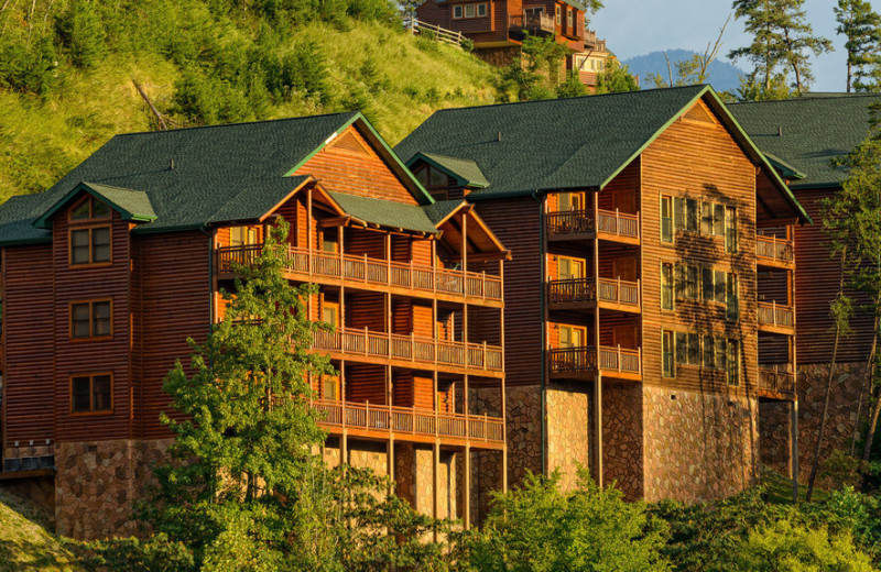
<path fill-rule="evenodd" d="M 644 386 L 643 403 L 646 501 L 722 498 L 755 483 L 754 398 Z"/>

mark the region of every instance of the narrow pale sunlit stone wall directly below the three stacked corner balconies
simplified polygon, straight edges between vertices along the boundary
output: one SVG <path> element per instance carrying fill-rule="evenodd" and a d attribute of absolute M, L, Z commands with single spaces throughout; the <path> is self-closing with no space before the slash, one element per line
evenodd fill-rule
<path fill-rule="evenodd" d="M 588 387 L 577 382 L 552 383 L 545 392 L 547 472 L 558 469 L 562 490 L 570 491 L 577 484 L 578 465 L 590 466 Z"/>

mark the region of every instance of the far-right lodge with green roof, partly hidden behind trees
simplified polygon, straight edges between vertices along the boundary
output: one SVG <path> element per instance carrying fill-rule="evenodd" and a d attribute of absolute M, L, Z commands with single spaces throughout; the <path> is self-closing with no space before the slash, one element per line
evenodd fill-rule
<path fill-rule="evenodd" d="M 829 304 L 838 292 L 838 262 L 826 246 L 820 224 L 822 200 L 835 196 L 847 172 L 831 166 L 869 132 L 869 106 L 881 102 L 879 95 L 835 95 L 731 105 L 729 109 L 759 148 L 788 183 L 795 197 L 816 222 L 795 227 L 790 237 L 777 237 L 783 252 L 794 254 L 795 328 L 798 355 L 798 440 L 801 471 L 806 476 L 817 442 L 826 384 L 833 355 L 833 323 Z M 779 239 L 785 239 L 781 241 Z M 770 283 L 773 273 L 761 273 Z M 822 455 L 834 450 L 850 451 L 860 441 L 861 419 L 869 415 L 866 366 L 872 348 L 872 316 L 860 306 L 863 295 L 849 289 L 855 315 L 851 333 L 839 342 L 835 391 L 829 404 L 829 420 L 824 432 Z M 769 355 L 771 358 L 771 355 Z M 782 471 L 791 470 L 785 414 L 775 403 L 761 405 L 762 459 Z M 858 450 L 858 454 L 861 451 Z"/>

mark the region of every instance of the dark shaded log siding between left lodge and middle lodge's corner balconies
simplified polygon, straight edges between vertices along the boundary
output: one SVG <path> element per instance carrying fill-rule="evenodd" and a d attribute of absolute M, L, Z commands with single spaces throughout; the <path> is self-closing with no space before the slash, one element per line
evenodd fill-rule
<path fill-rule="evenodd" d="M 511 251 L 504 268 L 504 372 L 507 385 L 542 377 L 542 208 L 533 198 L 480 201 L 475 210 Z M 516 221 L 516 224 L 511 224 Z"/>

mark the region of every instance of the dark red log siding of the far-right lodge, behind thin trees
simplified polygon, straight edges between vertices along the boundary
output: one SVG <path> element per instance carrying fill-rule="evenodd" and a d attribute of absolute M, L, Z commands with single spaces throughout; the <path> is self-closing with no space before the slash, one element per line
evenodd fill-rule
<path fill-rule="evenodd" d="M 835 334 L 829 319 L 829 304 L 838 292 L 839 264 L 829 256 L 823 232 L 820 201 L 834 189 L 798 189 L 795 196 L 814 224 L 795 227 L 795 327 L 796 358 L 800 364 L 829 363 Z M 846 289 L 855 308 L 868 304 L 864 294 Z M 856 311 L 850 320 L 851 334 L 838 346 L 839 363 L 864 362 L 872 345 L 872 317 Z"/>

